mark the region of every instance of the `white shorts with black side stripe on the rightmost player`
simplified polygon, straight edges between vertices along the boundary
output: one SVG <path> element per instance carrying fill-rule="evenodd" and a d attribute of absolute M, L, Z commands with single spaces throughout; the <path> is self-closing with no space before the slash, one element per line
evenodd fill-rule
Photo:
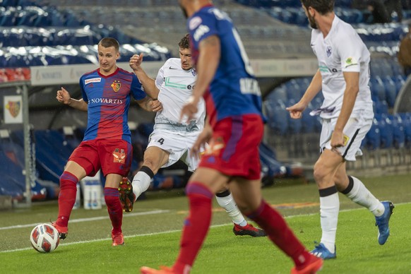
<path fill-rule="evenodd" d="M 320 151 L 331 150 L 331 134 L 334 131 L 337 118 L 323 119 L 323 127 L 320 136 Z M 363 117 L 350 117 L 342 133 L 344 134 L 344 146 L 337 148 L 340 155 L 347 161 L 355 161 L 356 156 L 361 156 L 362 140 L 372 126 L 372 119 Z"/>

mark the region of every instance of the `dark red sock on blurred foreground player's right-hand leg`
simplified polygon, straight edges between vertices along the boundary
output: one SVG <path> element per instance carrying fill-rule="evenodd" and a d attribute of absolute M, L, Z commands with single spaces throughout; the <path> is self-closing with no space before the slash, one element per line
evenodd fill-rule
<path fill-rule="evenodd" d="M 260 207 L 247 217 L 254 220 L 266 233 L 270 240 L 285 254 L 290 256 L 296 266 L 302 266 L 309 258 L 305 247 L 295 237 L 284 218 L 262 200 Z"/>

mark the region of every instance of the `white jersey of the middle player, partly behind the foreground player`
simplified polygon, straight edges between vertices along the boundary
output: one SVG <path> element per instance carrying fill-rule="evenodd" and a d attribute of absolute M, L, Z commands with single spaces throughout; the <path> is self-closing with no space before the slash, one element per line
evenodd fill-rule
<path fill-rule="evenodd" d="M 179 58 L 170 58 L 160 68 L 155 78 L 155 85 L 160 90 L 158 100 L 162 102 L 162 111 L 155 116 L 154 129 L 175 131 L 182 135 L 196 135 L 202 131 L 205 118 L 205 103 L 203 98 L 198 102 L 198 112 L 195 120 L 187 124 L 186 120 L 179 122 L 181 108 L 193 93 L 197 73 L 191 68 L 184 71 Z"/>

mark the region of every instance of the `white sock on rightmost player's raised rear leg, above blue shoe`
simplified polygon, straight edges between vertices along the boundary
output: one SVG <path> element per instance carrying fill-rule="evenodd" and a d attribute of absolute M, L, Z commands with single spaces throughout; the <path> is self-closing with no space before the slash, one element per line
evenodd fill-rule
<path fill-rule="evenodd" d="M 353 202 L 368 208 L 376 217 L 383 215 L 384 205 L 372 195 L 362 181 L 351 176 L 353 186 L 349 193 L 346 194 Z"/>

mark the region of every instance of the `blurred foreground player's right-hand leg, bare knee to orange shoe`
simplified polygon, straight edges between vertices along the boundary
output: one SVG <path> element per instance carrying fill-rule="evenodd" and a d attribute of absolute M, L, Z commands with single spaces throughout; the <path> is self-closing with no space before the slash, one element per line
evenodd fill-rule
<path fill-rule="evenodd" d="M 271 242 L 292 258 L 295 263 L 292 273 L 315 273 L 321 268 L 322 260 L 309 254 L 282 215 L 263 200 L 259 179 L 235 177 L 230 181 L 230 190 L 242 212 L 262 227 Z"/>

